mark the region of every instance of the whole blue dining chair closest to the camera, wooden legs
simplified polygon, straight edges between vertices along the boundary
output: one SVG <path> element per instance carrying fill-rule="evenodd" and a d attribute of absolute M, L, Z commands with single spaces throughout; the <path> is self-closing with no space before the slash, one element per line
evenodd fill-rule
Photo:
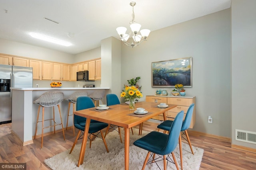
<path fill-rule="evenodd" d="M 145 169 L 146 164 L 150 164 L 152 162 L 155 162 L 157 164 L 157 162 L 160 160 L 164 160 L 164 170 L 166 170 L 168 162 L 172 162 L 170 160 L 169 154 L 172 154 L 173 162 L 177 170 L 179 169 L 173 150 L 178 145 L 178 139 L 180 136 L 180 129 L 182 126 L 183 116 L 184 116 L 184 111 L 180 111 L 178 115 L 175 117 L 172 123 L 172 126 L 169 128 L 169 131 L 170 131 L 169 135 L 161 132 L 152 131 L 148 133 L 148 135 L 138 139 L 133 143 L 137 147 L 148 150 L 148 154 L 144 161 L 142 170 Z M 151 155 L 150 155 L 150 152 L 152 152 Z M 158 154 L 159 156 L 156 159 L 155 159 L 155 154 Z M 166 158 L 166 155 L 167 155 L 167 158 Z M 152 160 L 150 161 L 149 161 L 149 156 L 150 158 L 152 158 Z M 166 163 L 166 160 L 167 160 L 167 163 Z"/>

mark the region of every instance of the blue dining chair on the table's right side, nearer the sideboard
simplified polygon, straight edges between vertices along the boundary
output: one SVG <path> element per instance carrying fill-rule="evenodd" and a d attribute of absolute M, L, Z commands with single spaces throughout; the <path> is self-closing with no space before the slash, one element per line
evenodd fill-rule
<path fill-rule="evenodd" d="M 191 105 L 188 107 L 188 111 L 187 111 L 187 113 L 186 113 L 185 119 L 184 119 L 184 121 L 183 121 L 183 123 L 182 123 L 182 127 L 181 127 L 181 130 L 180 130 L 180 131 L 182 132 L 182 135 L 180 135 L 180 137 L 179 137 L 179 145 L 180 145 L 180 164 L 181 164 L 181 169 L 182 169 L 182 170 L 183 170 L 183 160 L 182 160 L 182 142 L 181 142 L 181 137 L 183 137 L 184 133 L 186 134 L 187 139 L 185 139 L 184 137 L 183 137 L 183 138 L 184 138 L 186 141 L 188 141 L 188 144 L 189 144 L 189 146 L 190 146 L 191 152 L 192 152 L 192 154 L 194 154 L 193 149 L 192 149 L 192 145 L 191 145 L 191 143 L 190 143 L 190 139 L 189 139 L 189 137 L 188 137 L 188 131 L 187 131 L 187 129 L 188 129 L 189 126 L 190 126 L 191 119 L 192 119 L 193 110 L 194 110 L 194 105 L 195 105 L 195 104 L 191 104 Z M 158 131 L 159 131 L 159 129 L 163 129 L 163 130 L 164 130 L 164 133 L 166 133 L 167 131 L 169 131 L 170 127 L 172 126 L 172 123 L 173 123 L 173 121 L 171 121 L 171 120 L 166 120 L 166 121 L 164 121 L 163 123 L 161 123 L 160 125 L 157 126 Z"/>

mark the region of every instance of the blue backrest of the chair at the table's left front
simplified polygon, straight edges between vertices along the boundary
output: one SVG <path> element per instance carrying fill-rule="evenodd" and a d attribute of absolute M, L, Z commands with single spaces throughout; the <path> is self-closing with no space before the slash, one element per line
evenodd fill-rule
<path fill-rule="evenodd" d="M 76 110 L 82 110 L 82 109 L 88 109 L 95 107 L 94 103 L 92 102 L 92 99 L 89 98 L 88 96 L 81 96 L 78 97 L 76 100 Z M 74 115 L 74 124 L 80 123 L 80 122 L 85 122 L 86 118 L 81 117 L 78 115 Z"/>

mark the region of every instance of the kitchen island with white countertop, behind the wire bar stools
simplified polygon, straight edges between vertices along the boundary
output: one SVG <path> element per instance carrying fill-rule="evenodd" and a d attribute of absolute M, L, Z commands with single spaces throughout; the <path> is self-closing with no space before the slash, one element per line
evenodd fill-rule
<path fill-rule="evenodd" d="M 22 141 L 23 146 L 33 143 L 33 136 L 36 129 L 36 116 L 38 113 L 38 104 L 33 101 L 38 99 L 45 92 L 63 92 L 64 99 L 77 91 L 86 91 L 88 96 L 96 90 L 105 90 L 105 95 L 110 88 L 11 88 L 12 89 L 12 133 L 15 133 Z M 55 112 L 58 114 L 58 107 L 54 107 Z M 72 112 L 72 108 L 70 111 Z M 76 110 L 76 109 L 75 109 Z M 68 101 L 63 100 L 60 103 L 60 112 L 62 116 L 62 123 L 64 127 L 67 122 L 68 114 Z M 52 107 L 45 107 L 44 118 L 51 119 L 53 109 Z M 56 114 L 55 113 L 55 114 Z M 42 109 L 40 110 L 40 117 L 42 118 Z M 40 119 L 41 120 L 41 119 Z M 72 118 L 70 117 L 70 120 Z M 59 116 L 56 116 L 56 122 L 60 122 Z M 68 127 L 73 125 L 73 121 L 68 121 Z M 38 123 L 38 129 L 41 129 L 41 123 Z M 56 126 L 56 131 L 60 130 L 61 126 Z M 53 127 L 44 130 L 44 134 L 53 133 Z M 40 135 L 38 131 L 37 136 Z"/>

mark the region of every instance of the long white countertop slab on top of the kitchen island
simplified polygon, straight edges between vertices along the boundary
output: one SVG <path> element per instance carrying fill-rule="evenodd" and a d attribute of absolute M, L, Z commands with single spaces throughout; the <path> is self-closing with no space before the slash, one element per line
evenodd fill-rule
<path fill-rule="evenodd" d="M 49 88 L 17 88 L 12 87 L 12 90 L 99 90 L 99 89 L 110 89 L 109 87 L 49 87 Z"/>

